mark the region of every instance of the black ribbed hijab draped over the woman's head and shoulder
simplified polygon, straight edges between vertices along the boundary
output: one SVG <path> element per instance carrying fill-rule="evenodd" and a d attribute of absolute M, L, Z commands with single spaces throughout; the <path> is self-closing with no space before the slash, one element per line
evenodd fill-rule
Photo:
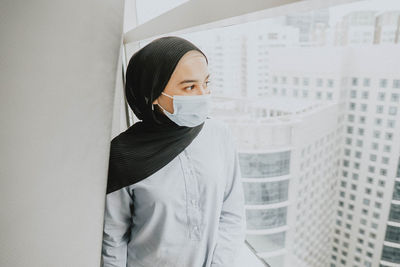
<path fill-rule="evenodd" d="M 178 61 L 190 50 L 204 55 L 183 38 L 161 37 L 129 60 L 125 95 L 141 121 L 111 140 L 107 194 L 135 184 L 167 165 L 203 128 L 204 122 L 195 127 L 179 126 L 152 104 L 166 87 Z"/>

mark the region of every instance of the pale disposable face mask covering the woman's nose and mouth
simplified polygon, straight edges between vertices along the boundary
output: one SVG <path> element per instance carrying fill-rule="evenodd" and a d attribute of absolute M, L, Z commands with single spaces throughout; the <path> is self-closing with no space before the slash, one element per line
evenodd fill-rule
<path fill-rule="evenodd" d="M 165 115 L 179 126 L 194 127 L 205 121 L 211 110 L 211 94 L 204 95 L 170 95 L 172 98 L 174 113 L 171 114 L 163 107 Z M 158 103 L 157 103 L 158 104 Z"/>

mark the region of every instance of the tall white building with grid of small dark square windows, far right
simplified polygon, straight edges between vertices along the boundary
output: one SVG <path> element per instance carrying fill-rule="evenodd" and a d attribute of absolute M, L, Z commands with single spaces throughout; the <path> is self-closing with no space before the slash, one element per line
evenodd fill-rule
<path fill-rule="evenodd" d="M 397 45 L 270 50 L 270 95 L 340 107 L 343 150 L 331 266 L 400 264 L 400 206 L 392 193 L 400 153 L 398 58 Z"/>

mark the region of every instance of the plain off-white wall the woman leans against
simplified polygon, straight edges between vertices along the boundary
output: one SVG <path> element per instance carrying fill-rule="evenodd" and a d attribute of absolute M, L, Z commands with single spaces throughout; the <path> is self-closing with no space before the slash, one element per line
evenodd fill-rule
<path fill-rule="evenodd" d="M 0 4 L 0 266 L 99 266 L 123 0 Z"/>

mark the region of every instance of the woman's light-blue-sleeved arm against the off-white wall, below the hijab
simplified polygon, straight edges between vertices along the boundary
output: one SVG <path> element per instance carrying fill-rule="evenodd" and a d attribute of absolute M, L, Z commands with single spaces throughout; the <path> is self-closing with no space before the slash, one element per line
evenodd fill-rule
<path fill-rule="evenodd" d="M 126 267 L 133 201 L 127 187 L 106 195 L 102 267 Z"/>

